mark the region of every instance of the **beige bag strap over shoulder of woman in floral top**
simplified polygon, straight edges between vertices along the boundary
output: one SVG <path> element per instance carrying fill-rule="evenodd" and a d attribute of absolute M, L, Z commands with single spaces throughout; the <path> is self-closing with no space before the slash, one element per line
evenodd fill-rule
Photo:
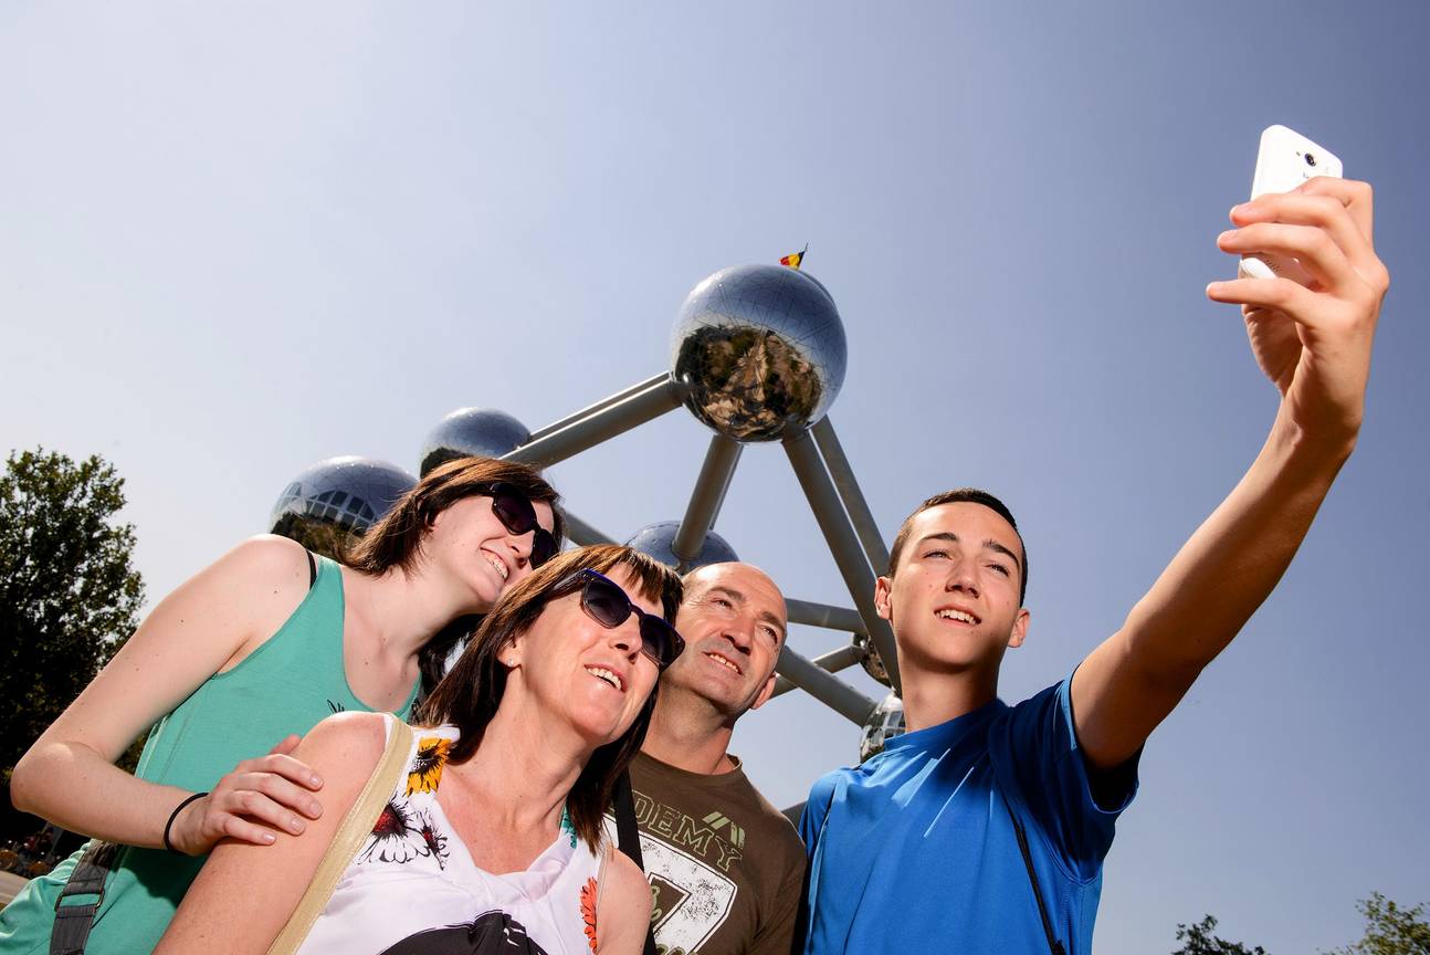
<path fill-rule="evenodd" d="M 398 788 L 398 781 L 402 779 L 402 772 L 408 768 L 408 756 L 412 755 L 412 728 L 392 713 L 383 713 L 383 718 L 395 725 L 388 733 L 388 746 L 382 751 L 382 759 L 378 761 L 378 766 L 368 778 L 368 785 L 358 793 L 358 799 L 343 816 L 343 823 L 337 826 L 327 852 L 317 864 L 313 881 L 309 882 L 307 891 L 303 892 L 303 898 L 299 899 L 297 908 L 293 909 L 283 931 L 269 946 L 269 955 L 293 955 L 303 945 L 307 931 L 327 908 L 327 899 L 332 898 L 337 879 L 347 871 L 363 841 L 372 835 L 378 816 L 382 815 L 383 806 L 388 805 L 388 799 Z"/>

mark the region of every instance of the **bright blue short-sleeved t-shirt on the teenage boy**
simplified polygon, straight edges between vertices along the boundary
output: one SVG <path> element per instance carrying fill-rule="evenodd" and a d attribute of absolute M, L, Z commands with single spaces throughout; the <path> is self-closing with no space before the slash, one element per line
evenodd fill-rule
<path fill-rule="evenodd" d="M 1103 858 L 1137 761 L 1100 778 L 1094 798 L 1070 681 L 897 736 L 814 785 L 799 821 L 807 955 L 1047 955 L 1010 806 L 1054 934 L 1068 955 L 1093 951 Z"/>

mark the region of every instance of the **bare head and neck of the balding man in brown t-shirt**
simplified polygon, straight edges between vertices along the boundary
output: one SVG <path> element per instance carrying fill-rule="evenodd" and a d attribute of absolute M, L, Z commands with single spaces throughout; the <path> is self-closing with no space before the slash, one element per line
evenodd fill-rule
<path fill-rule="evenodd" d="M 788 626 L 785 598 L 764 570 L 714 563 L 685 578 L 675 628 L 685 653 L 661 678 L 644 752 L 689 772 L 726 772 L 735 721 L 775 689 Z"/>

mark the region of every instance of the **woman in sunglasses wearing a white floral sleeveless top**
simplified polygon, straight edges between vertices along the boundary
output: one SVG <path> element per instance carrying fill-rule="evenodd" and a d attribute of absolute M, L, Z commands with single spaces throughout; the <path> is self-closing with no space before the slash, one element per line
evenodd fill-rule
<path fill-rule="evenodd" d="M 613 545 L 513 588 L 423 703 L 396 789 L 296 951 L 639 952 L 649 886 L 602 816 L 684 646 L 679 600 L 672 570 Z M 327 812 L 300 839 L 219 845 L 157 951 L 269 951 L 390 726 L 319 723 L 295 756 L 323 773 Z"/>

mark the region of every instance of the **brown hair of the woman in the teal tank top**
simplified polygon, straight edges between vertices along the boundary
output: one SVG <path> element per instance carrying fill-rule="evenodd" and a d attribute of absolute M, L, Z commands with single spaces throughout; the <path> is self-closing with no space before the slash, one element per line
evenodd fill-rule
<path fill-rule="evenodd" d="M 553 522 L 551 533 L 561 546 L 566 535 L 566 522 L 556 509 L 561 496 L 541 473 L 513 460 L 473 456 L 458 457 L 429 470 L 343 555 L 343 563 L 372 575 L 382 575 L 395 568 L 403 572 L 412 570 L 422 552 L 422 542 L 438 515 L 466 498 L 489 495 L 492 485 L 496 483 L 512 485 L 532 502 L 549 503 Z M 428 640 L 418 653 L 423 691 L 436 686 L 442 679 L 442 665 L 448 653 L 480 622 L 482 615 L 478 613 L 459 616 Z"/>

